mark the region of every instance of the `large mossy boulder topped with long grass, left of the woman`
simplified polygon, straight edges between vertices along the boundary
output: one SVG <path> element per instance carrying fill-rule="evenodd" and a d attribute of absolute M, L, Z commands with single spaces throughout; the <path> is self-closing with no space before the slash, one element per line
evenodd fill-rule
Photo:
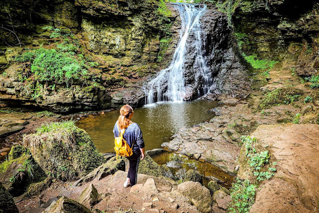
<path fill-rule="evenodd" d="M 84 176 L 105 162 L 90 136 L 73 121 L 42 125 L 24 135 L 23 142 L 45 172 L 63 180 Z"/>

